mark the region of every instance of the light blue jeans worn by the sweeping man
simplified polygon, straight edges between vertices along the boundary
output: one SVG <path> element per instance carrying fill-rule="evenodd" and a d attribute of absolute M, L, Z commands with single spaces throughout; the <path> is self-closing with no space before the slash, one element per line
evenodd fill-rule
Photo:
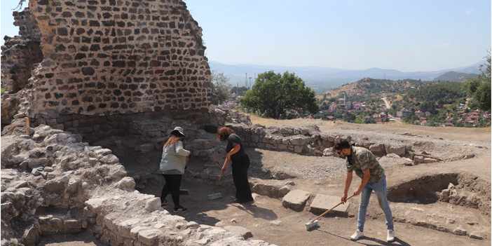
<path fill-rule="evenodd" d="M 359 231 L 364 231 L 367 206 L 369 205 L 369 198 L 371 198 L 372 191 L 376 193 L 379 207 L 381 207 L 384 212 L 384 217 L 386 219 L 386 228 L 388 228 L 388 230 L 392 229 L 393 216 L 391 214 L 391 208 L 390 204 L 388 203 L 388 198 L 386 198 L 386 175 L 383 176 L 383 178 L 378 182 L 367 182 L 366 186 L 362 188 L 359 201 L 359 218 L 357 219 L 357 229 L 359 229 Z"/>

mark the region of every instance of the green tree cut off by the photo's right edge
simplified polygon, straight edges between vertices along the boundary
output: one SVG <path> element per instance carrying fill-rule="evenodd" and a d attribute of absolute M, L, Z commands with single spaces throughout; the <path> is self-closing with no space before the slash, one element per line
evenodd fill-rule
<path fill-rule="evenodd" d="M 465 88 L 468 93 L 472 95 L 473 99 L 478 102 L 479 109 L 484 111 L 491 111 L 491 53 L 488 51 L 486 55 L 488 64 L 481 64 L 481 74 L 477 78 L 467 78 L 465 81 Z M 484 68 L 482 70 L 482 68 Z"/>

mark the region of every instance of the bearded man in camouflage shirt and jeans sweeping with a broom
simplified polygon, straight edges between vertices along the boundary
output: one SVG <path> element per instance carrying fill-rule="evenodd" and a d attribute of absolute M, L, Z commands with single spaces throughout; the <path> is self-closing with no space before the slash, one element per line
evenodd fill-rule
<path fill-rule="evenodd" d="M 364 223 L 366 221 L 367 206 L 372 191 L 376 193 L 379 207 L 384 212 L 386 228 L 388 228 L 388 237 L 386 240 L 392 242 L 395 240 L 395 230 L 393 228 L 393 217 L 391 208 L 386 198 L 386 176 L 384 169 L 379 165 L 374 154 L 363 147 L 351 146 L 347 140 L 339 139 L 334 149 L 336 153 L 346 158 L 347 177 L 341 201 L 345 203 L 348 197 L 348 189 L 352 183 L 353 171 L 362 181 L 359 187 L 354 191 L 353 196 L 360 194 L 359 217 L 357 219 L 357 231 L 350 237 L 350 240 L 357 240 L 364 236 Z"/>

